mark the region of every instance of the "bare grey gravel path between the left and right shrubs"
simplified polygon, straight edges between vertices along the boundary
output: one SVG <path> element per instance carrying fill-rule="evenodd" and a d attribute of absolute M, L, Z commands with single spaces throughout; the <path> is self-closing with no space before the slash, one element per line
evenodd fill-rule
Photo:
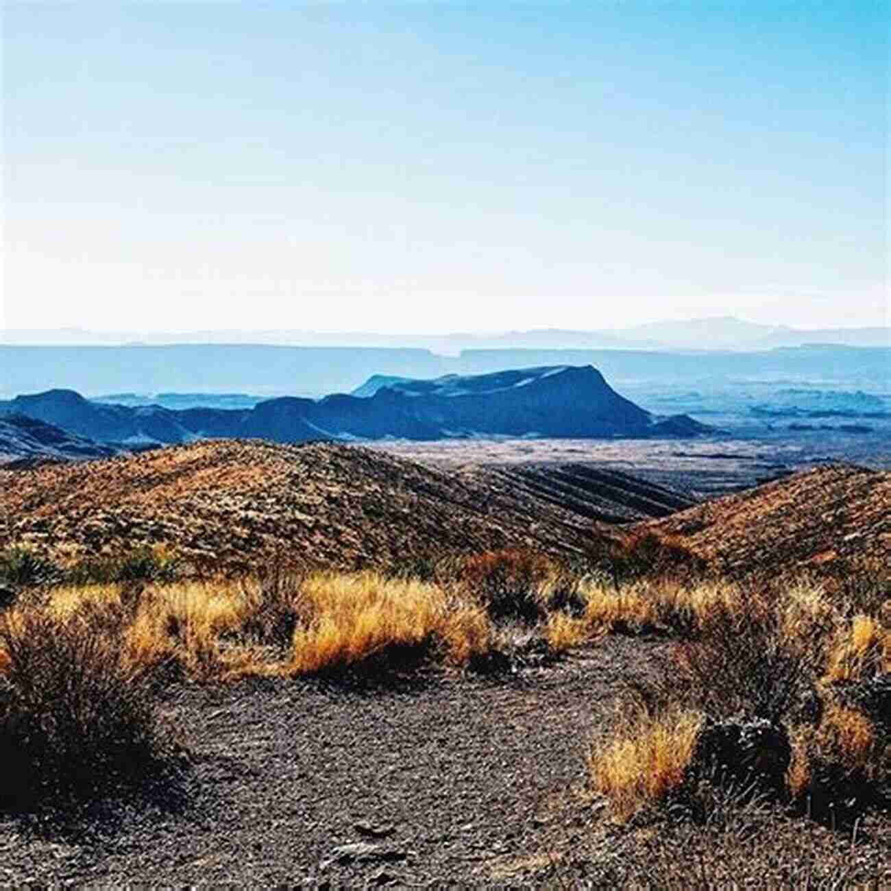
<path fill-rule="evenodd" d="M 653 646 L 417 691 L 180 688 L 164 708 L 196 759 L 184 809 L 122 808 L 81 835 L 6 819 L 0 883 L 522 881 L 589 812 L 573 789 L 591 734 Z"/>

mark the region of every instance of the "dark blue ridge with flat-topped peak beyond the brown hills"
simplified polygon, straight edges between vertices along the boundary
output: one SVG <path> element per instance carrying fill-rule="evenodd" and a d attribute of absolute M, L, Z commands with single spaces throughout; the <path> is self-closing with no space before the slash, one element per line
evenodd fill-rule
<path fill-rule="evenodd" d="M 2 413 L 124 447 L 206 437 L 298 443 L 387 437 L 693 437 L 715 432 L 686 415 L 660 417 L 644 411 L 619 396 L 590 365 L 450 374 L 435 380 L 374 377 L 353 395 L 319 400 L 285 396 L 231 409 L 109 405 L 54 389 L 0 402 Z"/>

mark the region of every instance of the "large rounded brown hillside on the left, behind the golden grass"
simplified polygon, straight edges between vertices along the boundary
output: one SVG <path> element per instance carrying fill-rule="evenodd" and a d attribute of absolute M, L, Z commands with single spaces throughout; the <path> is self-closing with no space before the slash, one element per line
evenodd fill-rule
<path fill-rule="evenodd" d="M 0 470 L 0 549 L 62 562 L 165 544 L 230 568 L 273 555 L 405 564 L 524 544 L 582 552 L 591 529 L 589 517 L 534 495 L 354 446 L 217 440 Z"/>

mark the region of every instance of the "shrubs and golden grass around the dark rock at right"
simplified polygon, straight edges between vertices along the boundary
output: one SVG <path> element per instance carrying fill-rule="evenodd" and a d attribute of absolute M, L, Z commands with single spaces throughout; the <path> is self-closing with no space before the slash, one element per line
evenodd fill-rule
<path fill-rule="evenodd" d="M 601 615 L 609 615 L 606 602 Z M 635 603 L 626 602 L 625 609 L 640 623 Z M 654 766 L 665 764 L 657 754 L 664 748 L 691 764 L 697 747 L 689 734 L 680 734 L 684 745 L 664 745 L 679 733 L 678 715 L 687 716 L 688 730 L 691 715 L 699 715 L 702 728 L 730 722 L 722 725 L 728 738 L 734 728 L 745 736 L 747 727 L 763 726 L 764 738 L 776 740 L 771 747 L 788 740 L 782 742 L 791 752 L 784 797 L 802 813 L 838 823 L 887 800 L 891 740 L 867 702 L 870 682 L 879 682 L 874 696 L 885 695 L 884 602 L 873 601 L 879 615 L 850 617 L 847 605 L 820 587 L 792 585 L 782 594 L 764 594 L 724 585 L 721 596 L 712 591 L 704 598 L 700 590 L 686 603 L 689 621 L 675 625 L 683 633 L 670 655 L 649 682 L 630 687 L 611 735 L 593 748 L 593 788 L 609 797 L 618 820 L 690 795 L 683 765 Z M 759 743 L 750 745 L 753 764 L 778 754 L 760 756 Z"/>

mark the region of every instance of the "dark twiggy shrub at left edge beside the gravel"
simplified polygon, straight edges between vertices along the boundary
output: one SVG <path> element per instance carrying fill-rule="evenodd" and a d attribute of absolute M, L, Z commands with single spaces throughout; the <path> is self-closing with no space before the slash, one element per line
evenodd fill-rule
<path fill-rule="evenodd" d="M 0 802 L 95 797 L 150 781 L 171 746 L 143 674 L 124 666 L 110 614 L 0 617 Z"/>

